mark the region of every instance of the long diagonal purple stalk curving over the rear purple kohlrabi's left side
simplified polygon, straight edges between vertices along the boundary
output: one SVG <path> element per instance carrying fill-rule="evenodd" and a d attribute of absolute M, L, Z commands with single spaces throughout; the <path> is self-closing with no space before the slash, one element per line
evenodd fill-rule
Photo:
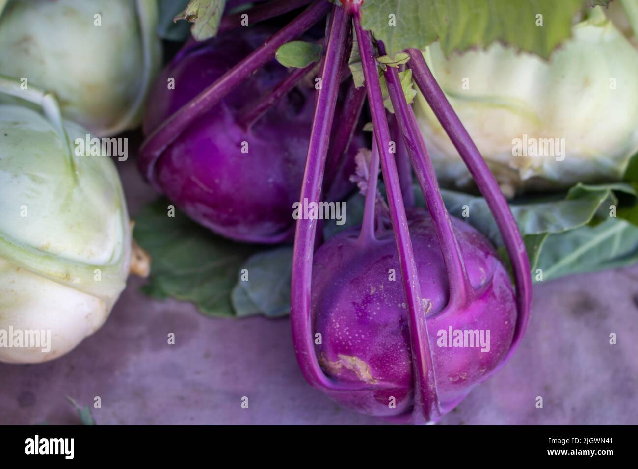
<path fill-rule="evenodd" d="M 152 181 L 154 166 L 159 155 L 175 138 L 181 135 L 182 131 L 186 130 L 197 117 L 217 105 L 228 93 L 241 85 L 246 78 L 255 73 L 255 70 L 271 61 L 281 45 L 297 38 L 322 19 L 329 9 L 330 4 L 327 1 L 316 1 L 290 24 L 271 36 L 261 47 L 227 71 L 219 80 L 204 89 L 154 130 L 140 147 L 139 164 L 147 179 Z"/>

